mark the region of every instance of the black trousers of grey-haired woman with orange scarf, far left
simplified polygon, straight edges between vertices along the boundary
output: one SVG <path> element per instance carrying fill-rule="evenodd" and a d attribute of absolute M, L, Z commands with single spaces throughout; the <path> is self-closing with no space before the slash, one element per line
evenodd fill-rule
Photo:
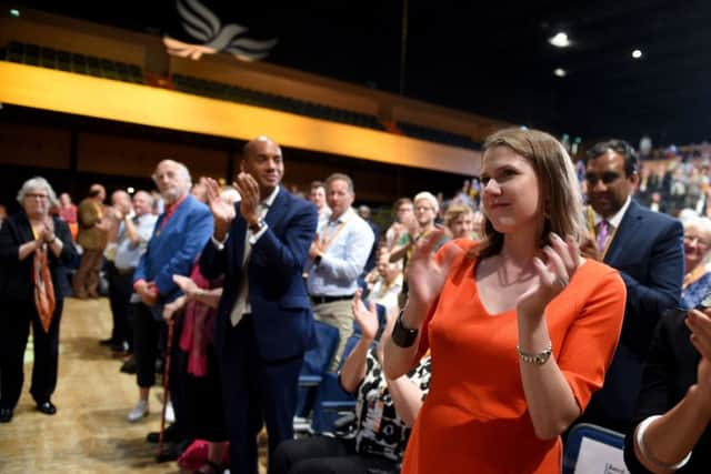
<path fill-rule="evenodd" d="M 63 303 L 62 299 L 57 301 L 49 332 L 42 329 L 34 300 L 0 304 L 0 407 L 14 409 L 20 400 L 24 382 L 23 355 L 30 324 L 34 345 L 30 394 L 40 404 L 54 393 Z"/>

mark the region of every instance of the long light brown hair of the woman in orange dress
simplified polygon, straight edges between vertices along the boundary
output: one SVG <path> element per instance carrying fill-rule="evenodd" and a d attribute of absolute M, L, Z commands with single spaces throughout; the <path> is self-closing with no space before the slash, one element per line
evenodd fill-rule
<path fill-rule="evenodd" d="M 507 147 L 523 157 L 533 168 L 540 189 L 540 223 L 537 245 L 550 243 L 549 234 L 571 235 L 581 245 L 589 240 L 582 212 L 582 195 L 570 155 L 558 140 L 539 130 L 504 129 L 487 138 L 483 154 L 495 147 Z M 503 246 L 484 215 L 483 240 L 475 248 L 479 258 L 495 255 Z"/>

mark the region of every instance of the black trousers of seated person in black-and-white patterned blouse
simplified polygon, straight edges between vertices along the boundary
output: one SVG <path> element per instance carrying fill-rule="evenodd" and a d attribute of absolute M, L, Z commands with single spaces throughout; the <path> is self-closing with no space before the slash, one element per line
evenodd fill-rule
<path fill-rule="evenodd" d="M 272 467 L 272 466 L 270 466 Z M 394 461 L 356 453 L 356 440 L 313 436 L 284 441 L 273 457 L 272 474 L 394 473 Z"/>

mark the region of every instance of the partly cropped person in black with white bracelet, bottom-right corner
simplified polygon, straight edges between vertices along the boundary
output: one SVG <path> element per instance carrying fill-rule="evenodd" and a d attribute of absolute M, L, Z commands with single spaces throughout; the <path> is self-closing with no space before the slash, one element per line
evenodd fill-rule
<path fill-rule="evenodd" d="M 711 472 L 709 314 L 668 312 L 657 326 L 624 443 L 631 474 Z"/>

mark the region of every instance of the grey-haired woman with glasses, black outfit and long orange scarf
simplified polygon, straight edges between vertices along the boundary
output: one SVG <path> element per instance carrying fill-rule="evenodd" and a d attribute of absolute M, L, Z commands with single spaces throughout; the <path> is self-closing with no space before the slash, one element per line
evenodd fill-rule
<path fill-rule="evenodd" d="M 0 423 L 12 420 L 20 399 L 30 324 L 30 393 L 40 412 L 57 412 L 50 399 L 57 386 L 59 322 L 68 290 L 64 266 L 76 255 L 67 223 L 49 214 L 57 195 L 46 179 L 26 181 L 18 202 L 22 211 L 0 229 Z"/>

